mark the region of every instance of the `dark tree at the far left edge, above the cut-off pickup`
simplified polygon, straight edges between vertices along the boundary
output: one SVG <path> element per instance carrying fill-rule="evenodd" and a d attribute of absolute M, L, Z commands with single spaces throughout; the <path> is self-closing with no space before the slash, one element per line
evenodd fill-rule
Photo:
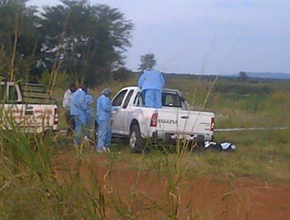
<path fill-rule="evenodd" d="M 0 71 L 12 80 L 26 78 L 39 50 L 36 8 L 26 0 L 0 0 Z"/>

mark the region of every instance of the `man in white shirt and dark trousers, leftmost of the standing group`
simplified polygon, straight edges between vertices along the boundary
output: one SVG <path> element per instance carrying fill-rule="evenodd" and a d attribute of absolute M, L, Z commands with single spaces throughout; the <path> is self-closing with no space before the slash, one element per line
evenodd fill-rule
<path fill-rule="evenodd" d="M 74 117 L 71 115 L 71 98 L 72 94 L 76 91 L 76 85 L 71 83 L 69 89 L 65 91 L 63 96 L 63 108 L 65 109 L 65 120 L 67 121 L 67 135 L 71 135 L 74 131 Z"/>

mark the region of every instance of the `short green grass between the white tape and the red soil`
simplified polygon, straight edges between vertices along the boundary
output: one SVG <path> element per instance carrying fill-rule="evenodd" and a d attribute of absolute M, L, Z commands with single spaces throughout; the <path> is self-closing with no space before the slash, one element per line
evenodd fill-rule
<path fill-rule="evenodd" d="M 214 176 L 217 179 L 233 175 L 235 177 L 255 177 L 267 181 L 289 181 L 290 179 L 290 131 L 241 131 L 216 133 L 216 140 L 236 144 L 234 152 L 212 150 L 189 151 L 184 156 L 188 163 L 188 177 Z M 143 155 L 132 155 L 127 146 L 118 148 L 122 153 L 119 162 L 126 162 L 126 168 L 135 169 Z M 145 155 L 144 170 L 156 170 L 164 153 L 152 150 Z M 175 154 L 169 153 L 169 161 Z M 174 164 L 174 163 L 173 163 Z M 162 172 L 161 172 L 162 173 Z"/>

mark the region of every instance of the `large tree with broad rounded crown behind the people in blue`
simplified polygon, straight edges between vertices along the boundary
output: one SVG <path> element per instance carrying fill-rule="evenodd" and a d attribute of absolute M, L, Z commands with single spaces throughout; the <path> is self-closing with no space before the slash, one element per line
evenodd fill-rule
<path fill-rule="evenodd" d="M 62 3 L 42 13 L 43 64 L 51 70 L 60 67 L 80 83 L 103 83 L 113 69 L 124 65 L 133 23 L 107 5 L 89 5 L 85 0 Z"/>

